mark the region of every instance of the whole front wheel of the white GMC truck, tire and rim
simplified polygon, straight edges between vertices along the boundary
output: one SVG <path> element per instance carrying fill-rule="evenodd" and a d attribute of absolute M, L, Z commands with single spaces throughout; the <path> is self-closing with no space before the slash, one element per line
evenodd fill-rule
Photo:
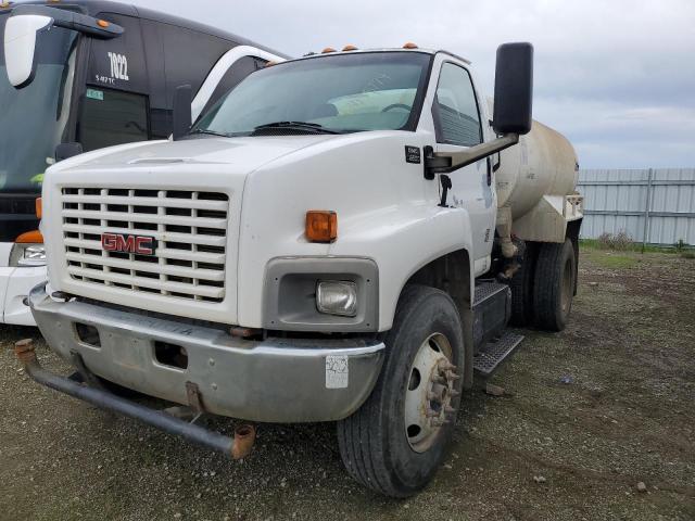
<path fill-rule="evenodd" d="M 357 482 L 407 497 L 432 479 L 456 421 L 465 360 L 456 305 L 439 290 L 405 288 L 384 343 L 375 390 L 338 422 L 338 443 Z"/>

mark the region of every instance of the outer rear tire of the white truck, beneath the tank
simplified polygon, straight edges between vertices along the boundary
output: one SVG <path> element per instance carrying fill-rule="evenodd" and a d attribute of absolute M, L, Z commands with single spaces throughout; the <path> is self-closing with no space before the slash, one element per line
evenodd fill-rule
<path fill-rule="evenodd" d="M 569 239 L 561 244 L 541 244 L 533 287 L 533 307 L 539 328 L 563 331 L 567 326 L 574 294 L 576 264 L 574 247 Z"/>

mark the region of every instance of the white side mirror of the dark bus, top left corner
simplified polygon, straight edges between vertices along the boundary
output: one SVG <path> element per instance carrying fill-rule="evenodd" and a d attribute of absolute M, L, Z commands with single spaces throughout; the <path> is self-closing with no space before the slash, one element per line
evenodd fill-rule
<path fill-rule="evenodd" d="M 10 16 L 4 26 L 4 61 L 10 84 L 21 89 L 34 80 L 36 74 L 36 35 L 48 30 L 53 18 L 37 14 Z"/>

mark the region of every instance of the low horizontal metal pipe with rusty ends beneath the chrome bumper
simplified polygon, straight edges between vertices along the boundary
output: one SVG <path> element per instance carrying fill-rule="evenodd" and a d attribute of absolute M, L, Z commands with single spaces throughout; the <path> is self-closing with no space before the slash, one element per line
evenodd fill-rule
<path fill-rule="evenodd" d="M 20 341 L 14 353 L 24 370 L 36 382 L 47 387 L 83 399 L 101 409 L 118 412 L 142 423 L 155 427 L 193 443 L 212 448 L 233 459 L 242 459 L 251 454 L 256 437 L 253 425 L 240 425 L 235 430 L 233 439 L 203 427 L 188 423 L 160 410 L 150 409 L 129 399 L 116 396 L 108 391 L 89 387 L 64 377 L 53 374 L 41 367 L 36 357 L 31 341 Z"/>

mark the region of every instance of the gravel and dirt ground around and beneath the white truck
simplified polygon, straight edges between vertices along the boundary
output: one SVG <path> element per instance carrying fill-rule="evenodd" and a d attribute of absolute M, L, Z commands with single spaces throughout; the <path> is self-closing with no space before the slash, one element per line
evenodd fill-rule
<path fill-rule="evenodd" d="M 503 396 L 477 383 L 437 479 L 402 501 L 348 478 L 332 424 L 260 425 L 230 462 L 39 387 L 12 355 L 36 331 L 2 328 L 0 519 L 693 520 L 694 268 L 583 252 L 568 329 L 527 333 Z"/>

